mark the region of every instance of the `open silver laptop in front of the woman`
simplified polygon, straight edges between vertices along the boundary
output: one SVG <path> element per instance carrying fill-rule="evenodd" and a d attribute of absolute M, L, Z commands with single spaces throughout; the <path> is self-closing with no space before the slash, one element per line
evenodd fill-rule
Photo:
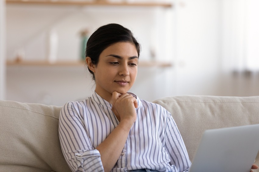
<path fill-rule="evenodd" d="M 190 172 L 250 172 L 259 151 L 259 124 L 206 130 Z"/>

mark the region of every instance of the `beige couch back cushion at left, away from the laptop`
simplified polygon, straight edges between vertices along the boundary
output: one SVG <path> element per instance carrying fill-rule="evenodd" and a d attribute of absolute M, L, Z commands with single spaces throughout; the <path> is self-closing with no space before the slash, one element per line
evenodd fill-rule
<path fill-rule="evenodd" d="M 59 144 L 60 109 L 0 101 L 1 171 L 70 171 Z"/>

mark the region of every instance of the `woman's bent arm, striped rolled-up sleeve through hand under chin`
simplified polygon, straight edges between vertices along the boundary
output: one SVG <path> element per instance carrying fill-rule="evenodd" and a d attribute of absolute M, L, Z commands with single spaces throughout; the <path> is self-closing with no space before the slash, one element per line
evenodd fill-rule
<path fill-rule="evenodd" d="M 62 107 L 59 138 L 63 155 L 73 171 L 110 171 L 114 167 L 125 146 L 130 128 L 136 120 L 135 98 L 123 95 L 117 101 L 119 96 L 118 94 L 114 97 L 113 110 L 119 115 L 117 118 L 120 119 L 120 123 L 96 149 L 92 146 L 84 122 L 80 118 L 83 115 L 75 108 L 77 105 L 67 103 Z M 116 105 L 121 108 L 115 110 Z M 130 114 L 133 118 L 129 117 Z"/>

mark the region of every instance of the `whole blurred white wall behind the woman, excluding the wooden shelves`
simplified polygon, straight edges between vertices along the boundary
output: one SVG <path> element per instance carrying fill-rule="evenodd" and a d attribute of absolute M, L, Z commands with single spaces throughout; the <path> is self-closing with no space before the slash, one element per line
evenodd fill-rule
<path fill-rule="evenodd" d="M 142 45 L 140 60 L 173 62 L 173 67 L 139 67 L 130 90 L 153 101 L 171 95 L 259 95 L 257 73 L 224 69 L 222 41 L 225 0 L 174 1 L 173 9 L 75 6 L 7 6 L 7 58 L 46 60 L 48 31 L 59 37 L 57 60 L 79 59 L 81 29 L 118 22 Z M 227 9 L 224 9 L 227 10 Z M 33 15 L 32 15 L 33 14 Z M 91 95 L 94 83 L 84 67 L 7 67 L 7 99 L 63 105 Z"/>

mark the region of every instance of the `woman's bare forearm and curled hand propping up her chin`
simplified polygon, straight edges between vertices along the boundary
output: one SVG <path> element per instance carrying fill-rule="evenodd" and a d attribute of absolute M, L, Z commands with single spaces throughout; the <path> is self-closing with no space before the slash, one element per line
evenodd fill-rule
<path fill-rule="evenodd" d="M 137 100 L 127 93 L 112 94 L 112 111 L 120 121 L 111 134 L 96 148 L 101 154 L 101 161 L 105 171 L 112 170 L 125 146 L 130 129 L 137 118 Z"/>

